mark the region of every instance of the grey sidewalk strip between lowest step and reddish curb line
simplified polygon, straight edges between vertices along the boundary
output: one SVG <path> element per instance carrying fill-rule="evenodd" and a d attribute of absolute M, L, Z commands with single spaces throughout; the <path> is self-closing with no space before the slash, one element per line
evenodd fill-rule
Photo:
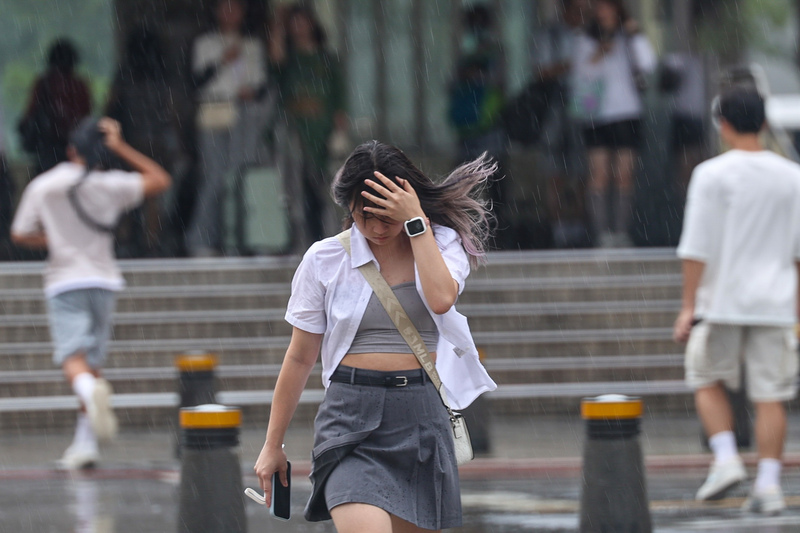
<path fill-rule="evenodd" d="M 252 465 L 264 443 L 266 428 L 245 426 L 241 431 L 241 458 L 244 468 Z M 525 470 L 575 470 L 580 468 L 584 444 L 584 422 L 578 416 L 503 416 L 495 417 L 490 424 L 492 449 L 464 469 L 466 475 L 472 469 L 482 475 L 485 465 L 498 468 L 494 475 L 513 475 Z M 71 432 L 24 432 L 5 431 L 0 435 L 0 472 L 19 469 L 52 467 L 53 461 L 69 445 Z M 708 465 L 710 455 L 703 449 L 700 440 L 700 425 L 693 414 L 650 415 L 642 419 L 639 436 L 644 460 L 648 467 L 669 469 L 703 467 Z M 286 452 L 296 468 L 303 471 L 311 454 L 311 423 L 293 424 L 286 436 Z M 114 466 L 137 468 L 178 468 L 175 458 L 175 437 L 166 429 L 142 429 L 126 431 L 117 441 L 102 450 L 103 463 Z M 746 453 L 753 460 L 753 453 Z M 786 446 L 786 462 L 789 466 L 800 466 L 800 413 L 789 417 L 789 435 Z M 473 465 L 484 465 L 478 468 Z M 102 465 L 101 465 L 102 466 Z M 505 471 L 505 474 L 501 474 Z"/>

